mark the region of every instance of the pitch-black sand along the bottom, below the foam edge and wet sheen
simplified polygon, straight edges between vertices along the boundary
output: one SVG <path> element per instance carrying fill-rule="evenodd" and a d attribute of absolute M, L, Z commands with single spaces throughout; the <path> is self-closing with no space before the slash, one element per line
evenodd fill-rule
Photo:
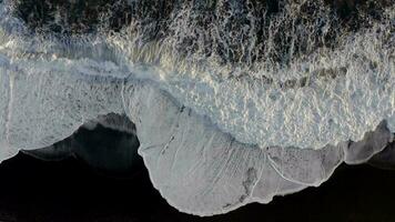
<path fill-rule="evenodd" d="M 369 165 L 343 165 L 320 188 L 212 218 L 168 205 L 145 169 L 120 180 L 74 159 L 42 162 L 19 154 L 0 164 L 0 221 L 395 221 L 395 171 Z"/>

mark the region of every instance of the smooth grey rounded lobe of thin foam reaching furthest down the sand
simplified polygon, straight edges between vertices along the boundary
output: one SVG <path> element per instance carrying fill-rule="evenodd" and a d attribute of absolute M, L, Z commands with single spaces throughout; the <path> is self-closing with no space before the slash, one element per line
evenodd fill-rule
<path fill-rule="evenodd" d="M 321 184 L 343 160 L 338 147 L 262 150 L 240 143 L 145 82 L 126 85 L 124 93 L 153 184 L 184 212 L 212 215 L 267 203 Z"/>

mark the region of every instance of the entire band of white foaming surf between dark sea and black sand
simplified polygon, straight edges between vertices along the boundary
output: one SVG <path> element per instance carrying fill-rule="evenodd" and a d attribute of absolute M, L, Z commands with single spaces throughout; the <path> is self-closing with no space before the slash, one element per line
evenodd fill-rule
<path fill-rule="evenodd" d="M 210 17 L 185 1 L 164 33 L 139 19 L 109 31 L 104 14 L 97 32 L 59 36 L 16 2 L 0 1 L 0 161 L 125 114 L 154 186 L 212 215 L 317 186 L 393 141 L 394 6 L 342 31 L 323 2 L 284 1 L 262 33 L 249 3 L 219 0 Z"/>

